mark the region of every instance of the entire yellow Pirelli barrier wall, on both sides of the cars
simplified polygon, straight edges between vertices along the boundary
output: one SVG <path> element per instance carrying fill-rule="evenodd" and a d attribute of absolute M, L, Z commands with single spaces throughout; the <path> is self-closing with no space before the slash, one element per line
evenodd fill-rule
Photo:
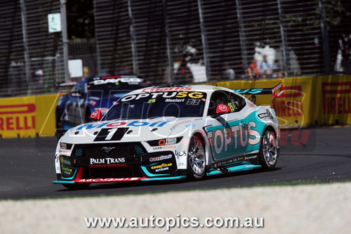
<path fill-rule="evenodd" d="M 272 88 L 282 82 L 284 96 L 256 97 L 257 105 L 270 105 L 285 128 L 351 124 L 351 75 L 290 77 L 258 81 L 212 82 L 239 90 Z M 250 98 L 250 95 L 248 96 Z M 53 136 L 57 94 L 0 99 L 0 138 Z"/>

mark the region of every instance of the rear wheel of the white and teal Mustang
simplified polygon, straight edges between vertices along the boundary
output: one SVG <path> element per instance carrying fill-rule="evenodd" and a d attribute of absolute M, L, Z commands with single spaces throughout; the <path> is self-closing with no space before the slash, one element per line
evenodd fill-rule
<path fill-rule="evenodd" d="M 259 162 L 266 171 L 272 171 L 277 164 L 279 149 L 277 136 L 272 129 L 267 129 L 263 134 L 260 145 Z"/>

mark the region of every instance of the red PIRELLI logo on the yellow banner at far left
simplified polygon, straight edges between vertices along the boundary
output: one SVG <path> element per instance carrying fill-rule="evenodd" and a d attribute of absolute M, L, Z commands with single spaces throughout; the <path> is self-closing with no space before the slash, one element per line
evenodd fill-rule
<path fill-rule="evenodd" d="M 35 129 L 35 110 L 34 103 L 0 105 L 0 130 Z"/>

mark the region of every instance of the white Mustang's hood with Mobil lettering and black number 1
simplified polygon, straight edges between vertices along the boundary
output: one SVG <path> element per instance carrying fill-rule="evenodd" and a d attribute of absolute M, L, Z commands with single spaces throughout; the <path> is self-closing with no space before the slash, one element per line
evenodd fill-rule
<path fill-rule="evenodd" d="M 173 136 L 182 136 L 194 129 L 194 117 L 157 117 L 152 119 L 116 119 L 81 124 L 69 129 L 62 136 L 65 143 L 112 143 L 152 141 Z"/>

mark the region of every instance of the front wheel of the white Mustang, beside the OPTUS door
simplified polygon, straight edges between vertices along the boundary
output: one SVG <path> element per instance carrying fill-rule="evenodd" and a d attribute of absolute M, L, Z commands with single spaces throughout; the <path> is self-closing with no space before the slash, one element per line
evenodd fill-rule
<path fill-rule="evenodd" d="M 187 156 L 187 178 L 192 181 L 204 178 L 206 173 L 206 155 L 204 141 L 194 135 L 190 140 Z"/>

